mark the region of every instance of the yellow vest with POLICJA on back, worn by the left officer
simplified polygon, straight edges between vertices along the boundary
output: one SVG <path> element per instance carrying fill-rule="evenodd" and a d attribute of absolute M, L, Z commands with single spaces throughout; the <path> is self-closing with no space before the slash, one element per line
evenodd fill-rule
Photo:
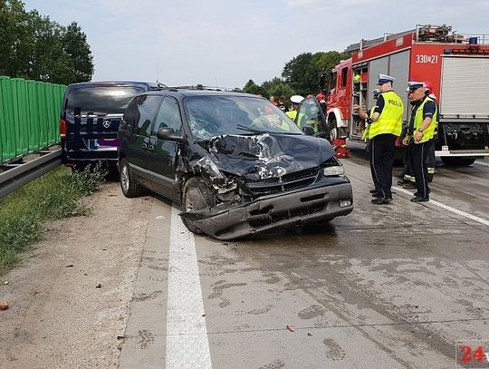
<path fill-rule="evenodd" d="M 400 136 L 402 131 L 402 116 L 404 115 L 404 105 L 396 92 L 382 92 L 384 98 L 384 109 L 379 115 L 379 119 L 370 125 L 369 139 L 384 133 L 391 133 Z"/>

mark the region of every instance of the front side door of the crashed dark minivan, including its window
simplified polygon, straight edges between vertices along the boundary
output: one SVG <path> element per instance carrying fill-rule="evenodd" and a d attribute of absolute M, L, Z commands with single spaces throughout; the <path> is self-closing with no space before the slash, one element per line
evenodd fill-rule
<path fill-rule="evenodd" d="M 175 188 L 177 155 L 179 143 L 175 141 L 158 140 L 157 132 L 160 128 L 172 128 L 175 134 L 182 130 L 182 116 L 177 99 L 166 96 L 159 108 L 157 118 L 153 124 L 149 142 L 153 147 L 151 160 L 149 160 L 149 176 L 155 191 L 170 199 L 179 201 Z"/>

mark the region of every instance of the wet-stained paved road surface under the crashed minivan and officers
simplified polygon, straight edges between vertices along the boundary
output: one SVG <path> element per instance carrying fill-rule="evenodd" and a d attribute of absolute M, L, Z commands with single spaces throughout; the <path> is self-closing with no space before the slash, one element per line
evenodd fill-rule
<path fill-rule="evenodd" d="M 262 238 L 194 237 L 154 199 L 120 367 L 489 367 L 489 166 L 376 206 L 365 155 L 343 163 L 349 216 Z"/>

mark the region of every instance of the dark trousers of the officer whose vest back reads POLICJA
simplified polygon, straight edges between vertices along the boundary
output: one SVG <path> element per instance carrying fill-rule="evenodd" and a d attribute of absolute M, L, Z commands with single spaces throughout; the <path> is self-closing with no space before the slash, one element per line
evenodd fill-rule
<path fill-rule="evenodd" d="M 375 189 L 381 197 L 392 199 L 392 166 L 396 156 L 397 136 L 384 133 L 370 141 L 370 170 Z"/>

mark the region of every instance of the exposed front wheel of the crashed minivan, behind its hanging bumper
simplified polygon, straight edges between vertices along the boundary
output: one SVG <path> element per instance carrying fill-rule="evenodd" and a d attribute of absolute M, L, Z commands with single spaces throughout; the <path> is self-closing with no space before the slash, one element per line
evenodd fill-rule
<path fill-rule="evenodd" d="M 182 195 L 184 212 L 198 211 L 215 206 L 216 196 L 209 182 L 200 177 L 192 177 L 187 180 Z M 197 235 L 204 233 L 186 218 L 182 217 L 182 220 L 190 232 L 196 233 Z"/>

